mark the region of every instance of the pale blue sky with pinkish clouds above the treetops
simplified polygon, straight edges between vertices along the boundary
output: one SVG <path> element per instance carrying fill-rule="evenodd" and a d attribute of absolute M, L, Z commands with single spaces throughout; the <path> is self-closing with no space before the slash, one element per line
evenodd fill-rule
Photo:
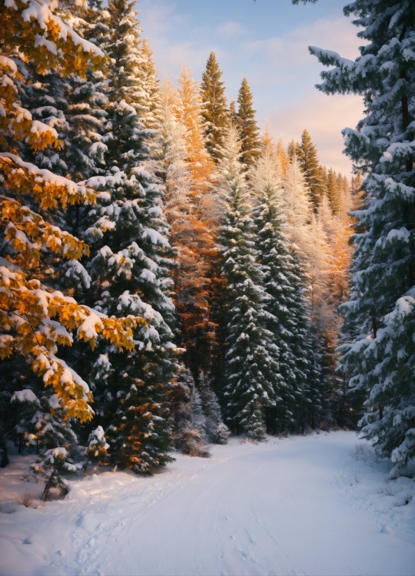
<path fill-rule="evenodd" d="M 159 75 L 173 82 L 183 63 L 201 80 L 213 50 L 226 94 L 236 100 L 246 76 L 257 121 L 287 144 L 307 128 L 320 162 L 350 175 L 341 130 L 363 116 L 359 96 L 326 96 L 315 84 L 323 69 L 308 45 L 354 59 L 362 41 L 343 15 L 345 0 L 292 6 L 290 0 L 138 0 L 143 37 L 150 40 Z"/>

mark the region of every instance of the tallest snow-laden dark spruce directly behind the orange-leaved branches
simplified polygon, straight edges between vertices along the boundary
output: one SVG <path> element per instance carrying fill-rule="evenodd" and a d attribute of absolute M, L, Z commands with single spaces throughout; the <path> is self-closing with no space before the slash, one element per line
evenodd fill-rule
<path fill-rule="evenodd" d="M 87 182 L 105 187 L 88 214 L 85 230 L 94 257 L 86 268 L 89 297 L 98 312 L 142 317 L 135 348 L 123 358 L 102 343 L 107 378 L 95 379 L 102 425 L 111 445 L 111 462 L 138 473 L 152 473 L 171 461 L 168 395 L 178 365 L 173 338 L 174 306 L 169 298 L 172 250 L 162 211 L 162 189 L 148 167 L 154 130 L 146 128 L 149 107 L 148 50 L 143 55 L 133 3 L 109 2 L 113 27 L 104 44 L 115 60 L 109 72 L 107 174 Z"/>

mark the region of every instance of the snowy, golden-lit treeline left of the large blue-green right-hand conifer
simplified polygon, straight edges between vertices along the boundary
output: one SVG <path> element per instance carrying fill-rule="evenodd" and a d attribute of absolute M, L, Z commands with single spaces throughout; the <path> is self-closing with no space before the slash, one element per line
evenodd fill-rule
<path fill-rule="evenodd" d="M 306 130 L 288 149 L 260 135 L 247 80 L 228 105 L 213 52 L 201 84 L 187 67 L 177 89 L 159 82 L 127 0 L 16 6 L 0 60 L 2 465 L 7 439 L 33 450 L 47 493 L 88 461 L 152 473 L 172 447 L 208 455 L 229 429 L 354 425 L 336 347 L 359 176 L 322 167 Z"/>

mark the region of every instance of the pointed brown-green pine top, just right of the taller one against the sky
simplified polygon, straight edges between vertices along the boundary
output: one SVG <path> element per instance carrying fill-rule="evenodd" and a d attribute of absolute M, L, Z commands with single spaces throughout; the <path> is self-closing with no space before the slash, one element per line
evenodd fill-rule
<path fill-rule="evenodd" d="M 244 78 L 237 96 L 237 127 L 241 141 L 241 162 L 250 167 L 260 154 L 259 128 L 256 123 L 256 110 L 248 80 Z"/>

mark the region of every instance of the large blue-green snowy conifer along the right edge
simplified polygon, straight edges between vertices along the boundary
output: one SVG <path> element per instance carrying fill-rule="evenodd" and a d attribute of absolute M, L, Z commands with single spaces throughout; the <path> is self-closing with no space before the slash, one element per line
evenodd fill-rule
<path fill-rule="evenodd" d="M 343 130 L 347 155 L 367 176 L 354 212 L 352 297 L 342 306 L 352 341 L 340 348 L 341 363 L 367 395 L 361 434 L 396 462 L 396 473 L 415 455 L 414 10 L 409 0 L 354 2 L 344 13 L 369 41 L 361 55 L 310 49 L 335 66 L 318 88 L 359 93 L 367 108 L 356 130 Z"/>

